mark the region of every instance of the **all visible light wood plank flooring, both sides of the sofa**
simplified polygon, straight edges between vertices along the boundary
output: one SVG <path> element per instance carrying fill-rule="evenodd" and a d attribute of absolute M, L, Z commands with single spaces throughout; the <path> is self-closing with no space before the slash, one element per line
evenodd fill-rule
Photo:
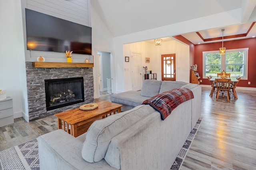
<path fill-rule="evenodd" d="M 204 119 L 181 170 L 256 170 L 256 91 L 237 90 L 238 100 L 210 98 L 202 88 Z M 102 96 L 98 101 L 110 101 Z M 31 122 L 17 118 L 0 127 L 0 150 L 8 149 L 57 129 L 56 117 Z"/>

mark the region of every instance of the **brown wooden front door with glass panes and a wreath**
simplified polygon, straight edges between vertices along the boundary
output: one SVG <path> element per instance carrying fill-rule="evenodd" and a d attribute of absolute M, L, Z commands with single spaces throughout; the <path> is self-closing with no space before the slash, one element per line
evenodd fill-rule
<path fill-rule="evenodd" d="M 176 81 L 175 54 L 161 55 L 162 59 L 162 81 Z"/>

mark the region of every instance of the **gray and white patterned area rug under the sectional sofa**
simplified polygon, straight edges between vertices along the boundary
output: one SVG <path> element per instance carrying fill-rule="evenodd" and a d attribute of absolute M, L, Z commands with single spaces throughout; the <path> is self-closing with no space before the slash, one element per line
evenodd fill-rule
<path fill-rule="evenodd" d="M 202 119 L 203 117 L 198 119 L 196 126 L 188 135 L 188 139 L 172 164 L 171 170 L 180 169 Z M 0 162 L 3 170 L 40 170 L 37 139 L 1 151 Z"/>

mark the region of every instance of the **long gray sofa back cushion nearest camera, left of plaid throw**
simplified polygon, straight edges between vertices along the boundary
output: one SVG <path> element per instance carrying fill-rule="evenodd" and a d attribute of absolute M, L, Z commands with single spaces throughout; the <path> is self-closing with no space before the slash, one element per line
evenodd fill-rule
<path fill-rule="evenodd" d="M 151 113 L 145 105 L 94 121 L 89 127 L 82 147 L 82 157 L 87 162 L 102 160 L 113 137 L 128 129 Z"/>

